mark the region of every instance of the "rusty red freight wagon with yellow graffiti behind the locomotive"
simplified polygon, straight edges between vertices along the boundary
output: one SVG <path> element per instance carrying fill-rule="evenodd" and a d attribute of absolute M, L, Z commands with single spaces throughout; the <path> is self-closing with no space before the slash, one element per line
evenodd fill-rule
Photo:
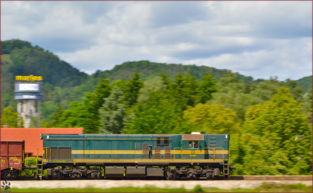
<path fill-rule="evenodd" d="M 1 178 L 14 180 L 24 169 L 37 169 L 36 166 L 24 166 L 25 141 L 1 141 Z"/>

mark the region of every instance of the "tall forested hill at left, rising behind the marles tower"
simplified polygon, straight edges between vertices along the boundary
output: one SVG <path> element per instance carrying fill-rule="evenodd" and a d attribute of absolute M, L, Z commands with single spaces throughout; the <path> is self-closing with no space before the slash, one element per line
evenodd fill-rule
<path fill-rule="evenodd" d="M 99 81 L 95 78 L 90 80 L 85 72 L 60 60 L 52 52 L 32 46 L 30 42 L 18 39 L 1 41 L 1 111 L 8 105 L 16 109 L 13 97 L 15 76 L 29 75 L 43 77 L 42 102 L 52 101 L 54 105 L 64 107 L 71 101 L 80 100 L 84 92 L 92 92 L 92 86 Z"/>

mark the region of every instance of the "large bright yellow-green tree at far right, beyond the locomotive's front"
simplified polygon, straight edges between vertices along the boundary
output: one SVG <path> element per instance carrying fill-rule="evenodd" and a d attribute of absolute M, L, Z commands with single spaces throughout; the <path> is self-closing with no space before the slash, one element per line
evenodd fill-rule
<path fill-rule="evenodd" d="M 272 150 L 286 154 L 297 166 L 298 174 L 309 174 L 312 172 L 312 132 L 301 106 L 288 88 L 281 87 L 271 101 L 249 107 L 244 130 L 271 141 Z M 304 137 L 295 140 L 297 135 Z"/>

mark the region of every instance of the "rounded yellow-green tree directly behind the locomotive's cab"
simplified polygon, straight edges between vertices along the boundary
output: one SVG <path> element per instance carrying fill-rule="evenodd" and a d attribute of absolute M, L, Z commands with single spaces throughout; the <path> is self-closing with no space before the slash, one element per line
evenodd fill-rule
<path fill-rule="evenodd" d="M 191 132 L 206 131 L 207 133 L 238 133 L 239 123 L 237 114 L 222 105 L 198 104 L 187 106 L 182 119 L 175 127 L 174 133 L 190 134 Z"/>

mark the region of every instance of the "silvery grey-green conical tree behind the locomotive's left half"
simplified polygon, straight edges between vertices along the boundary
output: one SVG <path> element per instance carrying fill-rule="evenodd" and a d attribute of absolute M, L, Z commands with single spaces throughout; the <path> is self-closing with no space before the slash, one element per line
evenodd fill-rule
<path fill-rule="evenodd" d="M 105 102 L 99 109 L 101 133 L 121 133 L 126 111 L 123 99 L 123 92 L 117 86 L 113 88 L 110 96 L 105 98 Z"/>

